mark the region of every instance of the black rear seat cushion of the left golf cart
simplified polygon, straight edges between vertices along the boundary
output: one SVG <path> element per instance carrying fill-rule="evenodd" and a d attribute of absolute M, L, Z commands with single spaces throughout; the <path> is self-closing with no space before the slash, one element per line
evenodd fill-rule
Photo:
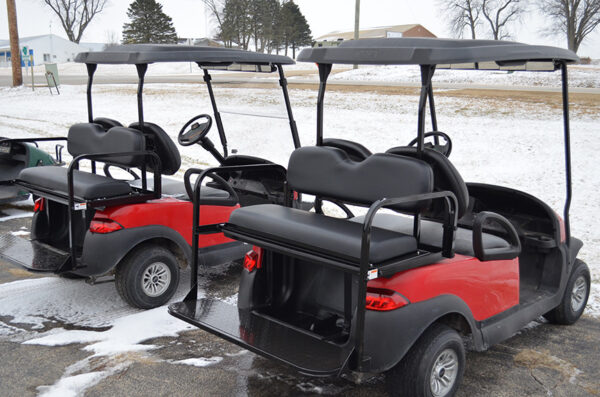
<path fill-rule="evenodd" d="M 17 180 L 67 196 L 67 168 L 58 166 L 26 168 Z M 131 193 L 127 182 L 102 175 L 75 170 L 73 172 L 73 192 L 75 197 L 94 200 L 116 197 Z"/>

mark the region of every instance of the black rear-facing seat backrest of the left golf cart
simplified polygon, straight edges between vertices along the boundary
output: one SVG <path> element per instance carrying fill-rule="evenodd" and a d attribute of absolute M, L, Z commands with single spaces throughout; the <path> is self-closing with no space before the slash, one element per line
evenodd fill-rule
<path fill-rule="evenodd" d="M 67 150 L 71 156 L 81 154 L 119 153 L 144 151 L 146 139 L 144 135 L 132 128 L 113 127 L 106 131 L 100 124 L 80 123 L 69 129 Z M 143 156 L 106 157 L 97 159 L 119 164 L 125 167 L 137 167 Z"/>

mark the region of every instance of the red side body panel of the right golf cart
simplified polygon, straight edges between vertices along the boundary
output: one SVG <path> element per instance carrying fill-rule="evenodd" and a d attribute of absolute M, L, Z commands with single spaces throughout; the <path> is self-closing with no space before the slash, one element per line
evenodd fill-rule
<path fill-rule="evenodd" d="M 378 278 L 369 287 L 394 290 L 411 303 L 452 294 L 482 321 L 519 304 L 519 259 L 481 262 L 456 255 L 452 259 Z"/>

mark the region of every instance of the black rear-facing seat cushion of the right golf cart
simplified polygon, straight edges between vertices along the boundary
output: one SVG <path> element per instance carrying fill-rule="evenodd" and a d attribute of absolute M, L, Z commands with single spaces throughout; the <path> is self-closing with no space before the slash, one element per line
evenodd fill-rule
<path fill-rule="evenodd" d="M 276 241 L 305 249 L 319 249 L 355 263 L 360 261 L 362 226 L 346 219 L 261 204 L 236 209 L 229 218 L 229 224 Z M 369 262 L 385 262 L 416 250 L 414 237 L 374 227 Z"/>

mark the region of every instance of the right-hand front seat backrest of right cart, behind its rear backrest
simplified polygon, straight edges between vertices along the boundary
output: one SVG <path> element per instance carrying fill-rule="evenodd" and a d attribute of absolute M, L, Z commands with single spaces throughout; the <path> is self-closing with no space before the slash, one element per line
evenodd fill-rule
<path fill-rule="evenodd" d="M 389 149 L 386 153 L 399 156 L 419 158 L 416 147 L 398 146 Z M 452 165 L 448 157 L 433 149 L 423 149 L 421 160 L 425 161 L 433 169 L 433 184 L 434 190 L 442 191 L 449 190 L 456 196 L 458 203 L 458 217 L 462 217 L 469 206 L 469 191 L 462 176 L 457 169 Z M 434 203 L 427 216 L 438 218 L 443 214 L 441 203 Z"/>

